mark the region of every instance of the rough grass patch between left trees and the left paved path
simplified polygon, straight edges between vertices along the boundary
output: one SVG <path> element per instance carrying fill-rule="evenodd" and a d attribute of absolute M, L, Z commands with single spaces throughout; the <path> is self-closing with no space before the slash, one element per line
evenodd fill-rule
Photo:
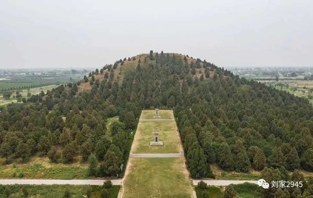
<path fill-rule="evenodd" d="M 87 163 L 75 159 L 73 163 L 50 163 L 47 156 L 36 154 L 25 163 L 21 158 L 0 159 L 1 179 L 86 179 Z M 23 177 L 21 177 L 23 175 Z"/>

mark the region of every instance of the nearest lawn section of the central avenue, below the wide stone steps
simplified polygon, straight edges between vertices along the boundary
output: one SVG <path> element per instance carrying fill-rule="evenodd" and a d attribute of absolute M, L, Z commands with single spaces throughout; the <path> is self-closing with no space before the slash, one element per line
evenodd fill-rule
<path fill-rule="evenodd" d="M 184 158 L 130 158 L 123 198 L 190 198 L 193 186 Z"/>

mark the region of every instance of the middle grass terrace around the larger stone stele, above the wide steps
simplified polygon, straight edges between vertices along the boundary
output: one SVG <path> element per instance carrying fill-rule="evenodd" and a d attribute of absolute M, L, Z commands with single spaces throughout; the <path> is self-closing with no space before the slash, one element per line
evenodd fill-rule
<path fill-rule="evenodd" d="M 142 114 L 145 111 L 142 111 Z M 172 113 L 172 111 L 171 111 Z M 159 131 L 159 141 L 163 146 L 150 146 L 154 131 Z M 132 153 L 180 153 L 180 137 L 176 132 L 175 120 L 139 121 L 135 134 Z"/>

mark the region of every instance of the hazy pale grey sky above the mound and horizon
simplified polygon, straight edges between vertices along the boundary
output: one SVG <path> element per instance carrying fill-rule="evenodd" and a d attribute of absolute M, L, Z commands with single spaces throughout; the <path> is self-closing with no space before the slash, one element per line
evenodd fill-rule
<path fill-rule="evenodd" d="M 150 50 L 219 67 L 313 66 L 313 1 L 0 1 L 0 68 L 100 67 Z"/>

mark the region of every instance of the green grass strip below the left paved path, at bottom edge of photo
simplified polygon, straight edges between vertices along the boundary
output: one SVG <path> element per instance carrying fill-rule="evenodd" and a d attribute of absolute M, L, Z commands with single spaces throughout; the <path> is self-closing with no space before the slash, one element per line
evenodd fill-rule
<path fill-rule="evenodd" d="M 59 198 L 64 196 L 66 189 L 69 189 L 71 197 L 87 197 L 87 190 L 91 186 L 92 193 L 90 198 L 100 197 L 102 186 L 98 185 L 3 185 L 4 188 L 8 189 L 9 197 L 25 197 L 21 188 L 24 187 L 27 192 L 27 197 L 36 197 L 36 198 Z M 108 189 L 110 198 L 116 198 L 120 190 L 119 185 L 115 185 L 112 188 Z M 0 192 L 0 195 L 1 192 Z"/>

